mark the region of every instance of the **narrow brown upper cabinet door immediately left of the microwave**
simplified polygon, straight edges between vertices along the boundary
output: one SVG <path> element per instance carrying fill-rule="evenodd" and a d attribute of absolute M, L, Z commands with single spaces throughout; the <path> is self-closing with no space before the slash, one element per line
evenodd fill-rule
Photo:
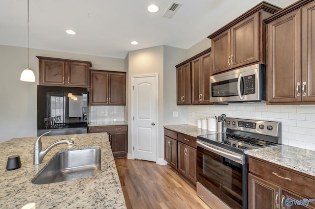
<path fill-rule="evenodd" d="M 210 102 L 210 76 L 211 76 L 211 52 L 201 56 L 201 104 L 213 104 Z"/>

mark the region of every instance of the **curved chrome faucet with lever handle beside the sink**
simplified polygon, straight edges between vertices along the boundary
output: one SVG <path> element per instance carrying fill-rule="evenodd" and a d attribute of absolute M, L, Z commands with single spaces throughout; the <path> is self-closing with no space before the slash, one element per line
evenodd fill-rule
<path fill-rule="evenodd" d="M 67 144 L 67 145 L 71 145 L 74 144 L 73 140 L 65 140 L 62 139 L 60 141 L 57 141 L 55 143 L 53 143 L 52 145 L 50 145 L 49 147 L 47 147 L 45 150 L 42 150 L 41 147 L 41 140 L 40 138 L 49 133 L 50 131 L 43 133 L 41 136 L 38 137 L 38 139 L 36 139 L 35 143 L 34 143 L 34 165 L 38 165 L 41 164 L 43 162 L 43 158 L 46 156 L 46 154 L 54 147 L 56 147 L 57 145 L 60 144 Z"/>

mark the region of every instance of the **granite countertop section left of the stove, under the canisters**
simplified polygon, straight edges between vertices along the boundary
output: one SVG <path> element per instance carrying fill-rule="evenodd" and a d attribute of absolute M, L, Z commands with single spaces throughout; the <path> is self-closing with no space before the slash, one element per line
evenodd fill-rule
<path fill-rule="evenodd" d="M 204 130 L 204 129 L 199 129 L 196 126 L 187 125 L 187 124 L 183 124 L 183 125 L 166 125 L 166 126 L 163 126 L 163 127 L 165 129 L 169 129 L 171 131 L 181 132 L 181 133 L 184 133 L 186 135 L 193 136 L 193 137 L 196 137 L 196 138 L 199 135 L 218 133 L 218 132 L 214 132 L 214 131 L 208 131 L 208 130 Z"/>

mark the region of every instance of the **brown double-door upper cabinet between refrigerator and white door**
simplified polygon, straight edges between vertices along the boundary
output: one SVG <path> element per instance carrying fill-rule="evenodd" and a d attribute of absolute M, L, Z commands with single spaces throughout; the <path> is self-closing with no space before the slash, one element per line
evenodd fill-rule
<path fill-rule="evenodd" d="M 126 105 L 126 73 L 91 70 L 91 105 Z"/>

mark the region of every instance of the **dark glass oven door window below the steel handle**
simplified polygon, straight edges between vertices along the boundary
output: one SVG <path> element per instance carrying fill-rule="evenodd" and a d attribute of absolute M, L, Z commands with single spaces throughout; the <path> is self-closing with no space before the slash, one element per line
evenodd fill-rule
<path fill-rule="evenodd" d="M 242 209 L 243 165 L 197 148 L 197 181 L 233 209 Z"/>

